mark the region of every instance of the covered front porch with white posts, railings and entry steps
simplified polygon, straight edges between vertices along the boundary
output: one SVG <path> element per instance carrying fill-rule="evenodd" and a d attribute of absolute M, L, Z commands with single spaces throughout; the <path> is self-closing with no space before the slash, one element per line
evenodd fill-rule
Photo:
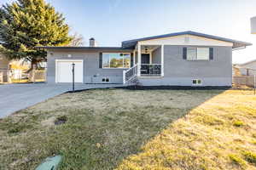
<path fill-rule="evenodd" d="M 133 77 L 164 76 L 164 46 L 137 43 L 131 57 L 131 68 L 124 71 L 124 83 Z"/>

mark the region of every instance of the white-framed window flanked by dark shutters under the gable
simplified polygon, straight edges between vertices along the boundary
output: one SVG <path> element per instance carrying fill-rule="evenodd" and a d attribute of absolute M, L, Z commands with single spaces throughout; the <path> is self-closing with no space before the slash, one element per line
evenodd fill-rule
<path fill-rule="evenodd" d="M 188 48 L 188 60 L 209 60 L 210 48 Z"/>

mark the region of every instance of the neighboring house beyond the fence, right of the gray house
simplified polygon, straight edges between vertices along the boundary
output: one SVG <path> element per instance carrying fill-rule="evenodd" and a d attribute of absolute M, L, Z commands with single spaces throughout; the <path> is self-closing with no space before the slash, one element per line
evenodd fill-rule
<path fill-rule="evenodd" d="M 253 76 L 256 75 L 256 59 L 243 64 L 233 65 L 234 76 Z"/>

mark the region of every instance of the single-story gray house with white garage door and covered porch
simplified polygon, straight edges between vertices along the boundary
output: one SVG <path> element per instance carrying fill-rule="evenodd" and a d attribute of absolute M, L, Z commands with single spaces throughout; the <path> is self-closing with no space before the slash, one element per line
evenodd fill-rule
<path fill-rule="evenodd" d="M 231 86 L 232 50 L 252 45 L 195 31 L 122 42 L 121 47 L 43 47 L 47 82 L 142 86 Z M 42 48 L 42 47 L 41 47 Z"/>

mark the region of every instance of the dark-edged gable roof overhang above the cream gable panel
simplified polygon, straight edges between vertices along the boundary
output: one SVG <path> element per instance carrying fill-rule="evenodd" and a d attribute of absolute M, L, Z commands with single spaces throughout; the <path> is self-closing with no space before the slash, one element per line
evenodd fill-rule
<path fill-rule="evenodd" d="M 122 42 L 122 48 L 135 48 L 137 45 L 137 42 L 141 42 L 141 41 L 158 39 L 158 38 L 163 38 L 163 37 L 183 36 L 183 35 L 192 35 L 192 36 L 215 39 L 215 40 L 219 40 L 219 41 L 223 41 L 223 42 L 232 42 L 233 43 L 232 48 L 242 48 L 242 47 L 246 47 L 249 45 L 253 45 L 252 43 L 249 43 L 249 42 L 241 42 L 241 41 L 237 41 L 237 40 L 233 40 L 233 39 L 229 39 L 229 38 L 225 38 L 225 37 L 217 37 L 217 36 L 203 34 L 203 33 L 195 32 L 195 31 L 182 31 L 182 32 L 175 32 L 175 33 L 171 33 L 171 34 L 164 34 L 164 35 L 160 35 L 160 36 L 143 37 L 143 38 L 128 40 L 128 41 Z"/>

